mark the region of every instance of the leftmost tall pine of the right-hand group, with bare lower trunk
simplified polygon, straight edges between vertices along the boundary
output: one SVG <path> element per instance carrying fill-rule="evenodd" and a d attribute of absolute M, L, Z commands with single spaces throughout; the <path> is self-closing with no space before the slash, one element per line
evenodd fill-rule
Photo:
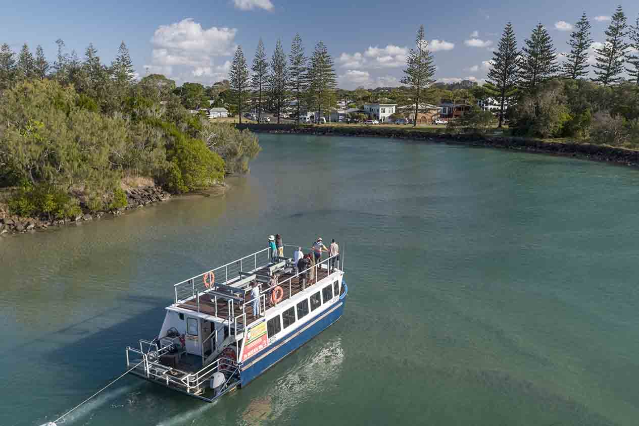
<path fill-rule="evenodd" d="M 519 55 L 517 38 L 512 24 L 506 24 L 497 50 L 493 52 L 492 68 L 488 72 L 488 89 L 495 91 L 500 100 L 499 125 L 504 123 L 504 107 L 508 98 L 514 95 L 518 84 Z"/>

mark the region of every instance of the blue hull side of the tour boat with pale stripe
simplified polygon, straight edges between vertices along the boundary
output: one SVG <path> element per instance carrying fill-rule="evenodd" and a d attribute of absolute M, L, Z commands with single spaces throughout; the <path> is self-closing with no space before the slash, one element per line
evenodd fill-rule
<path fill-rule="evenodd" d="M 346 282 L 343 283 L 343 287 L 344 293 L 339 296 L 339 299 L 325 308 L 318 316 L 310 319 L 301 328 L 291 331 L 291 333 L 282 337 L 275 345 L 266 347 L 260 353 L 244 361 L 242 367 L 240 367 L 241 386 L 249 384 L 250 381 L 275 365 L 277 361 L 280 361 L 335 323 L 344 312 L 344 303 L 348 293 Z"/>

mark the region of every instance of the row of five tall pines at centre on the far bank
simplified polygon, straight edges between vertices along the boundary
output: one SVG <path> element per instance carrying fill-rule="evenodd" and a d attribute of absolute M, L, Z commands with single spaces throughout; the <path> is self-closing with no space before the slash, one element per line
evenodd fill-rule
<path fill-rule="evenodd" d="M 290 101 L 295 101 L 296 122 L 299 123 L 302 110 L 317 110 L 322 117 L 322 112 L 337 102 L 337 75 L 326 45 L 319 42 L 311 57 L 307 57 L 300 34 L 295 34 L 288 55 L 278 39 L 270 61 L 260 38 L 250 71 L 242 46 L 238 46 L 229 71 L 229 82 L 231 102 L 240 123 L 249 105 L 256 110 L 258 121 L 262 112 L 270 111 L 279 123 L 282 114 L 289 110 Z"/>

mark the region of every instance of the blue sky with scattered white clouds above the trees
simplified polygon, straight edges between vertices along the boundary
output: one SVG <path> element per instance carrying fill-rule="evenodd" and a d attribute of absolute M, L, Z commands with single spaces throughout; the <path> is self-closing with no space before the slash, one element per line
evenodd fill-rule
<path fill-rule="evenodd" d="M 621 5 L 629 24 L 634 24 L 639 2 Z M 58 39 L 81 57 L 93 43 L 103 61 L 111 63 L 124 41 L 140 77 L 163 73 L 178 84 L 210 85 L 227 77 L 238 45 L 250 66 L 259 38 L 270 57 L 278 38 L 288 53 L 299 33 L 307 54 L 320 40 L 327 45 L 338 86 L 354 89 L 398 86 L 406 54 L 424 25 L 437 66 L 435 77 L 481 83 L 507 22 L 512 22 L 520 46 L 541 22 L 562 53 L 568 50 L 571 26 L 585 11 L 594 49 L 604 41 L 603 32 L 616 7 L 617 3 L 594 0 L 452 5 L 432 0 L 0 0 L 0 43 L 9 43 L 15 51 L 24 43 L 32 50 L 42 45 L 50 61 L 56 56 Z"/>

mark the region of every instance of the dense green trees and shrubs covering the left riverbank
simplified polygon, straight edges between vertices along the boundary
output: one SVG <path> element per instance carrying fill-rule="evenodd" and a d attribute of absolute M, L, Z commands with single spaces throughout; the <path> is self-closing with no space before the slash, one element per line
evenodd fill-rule
<path fill-rule="evenodd" d="M 18 215 L 70 217 L 122 207 L 123 178 L 153 178 L 174 193 L 245 172 L 257 137 L 183 107 L 186 89 L 152 74 L 137 80 L 121 43 L 105 64 L 62 40 L 53 62 L 38 46 L 0 47 L 0 187 Z M 3 192 L 4 194 L 4 192 Z"/>

